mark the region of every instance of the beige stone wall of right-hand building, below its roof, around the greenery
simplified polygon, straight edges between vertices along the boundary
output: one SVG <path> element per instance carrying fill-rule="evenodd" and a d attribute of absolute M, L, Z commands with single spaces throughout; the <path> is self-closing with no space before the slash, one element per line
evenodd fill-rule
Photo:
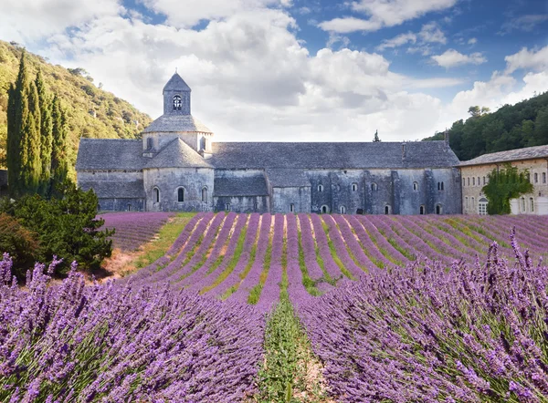
<path fill-rule="evenodd" d="M 512 161 L 520 171 L 529 170 L 533 191 L 511 203 L 513 214 L 548 214 L 548 161 L 544 159 Z M 489 182 L 488 174 L 500 164 L 483 164 L 460 167 L 462 176 L 462 212 L 479 214 L 480 202 L 487 200 L 482 188 Z M 536 175 L 535 175 L 536 174 Z"/>

